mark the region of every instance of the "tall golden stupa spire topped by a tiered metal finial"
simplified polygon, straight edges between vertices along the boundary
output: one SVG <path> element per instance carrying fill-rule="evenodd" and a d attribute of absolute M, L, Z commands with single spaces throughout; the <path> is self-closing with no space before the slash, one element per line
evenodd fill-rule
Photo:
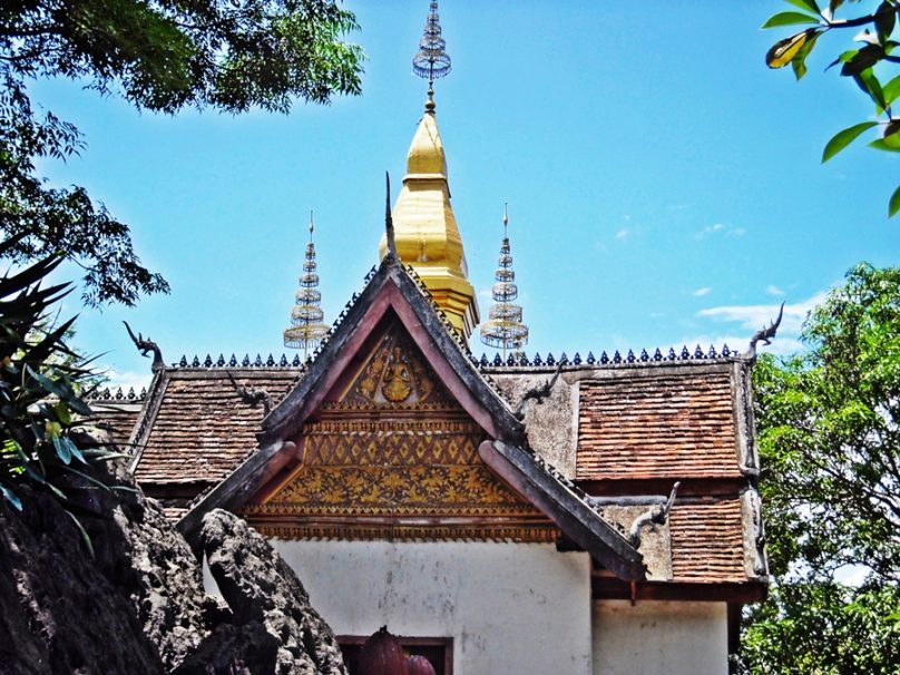
<path fill-rule="evenodd" d="M 434 115 L 432 85 L 436 78 L 450 71 L 434 1 L 412 67 L 417 75 L 428 78 L 429 100 L 407 155 L 407 175 L 393 209 L 397 254 L 403 264 L 412 265 L 438 306 L 468 340 L 479 322 L 479 313 L 468 278 L 462 238 L 450 206 L 447 159 Z M 388 254 L 387 237 L 381 238 L 379 252 L 382 258 Z"/>

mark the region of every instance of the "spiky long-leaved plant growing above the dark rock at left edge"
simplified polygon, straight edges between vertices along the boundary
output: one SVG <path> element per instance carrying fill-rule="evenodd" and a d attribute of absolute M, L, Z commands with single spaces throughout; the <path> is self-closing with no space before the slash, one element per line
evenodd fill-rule
<path fill-rule="evenodd" d="M 0 244 L 0 254 L 14 244 Z M 69 285 L 41 287 L 40 282 L 61 260 L 45 258 L 0 278 L 0 493 L 19 509 L 20 481 L 65 499 L 57 477 L 70 473 L 94 481 L 78 466 L 86 467 L 91 457 L 110 457 L 79 448 L 71 438 L 78 417 L 90 414 L 77 391 L 92 373 L 63 341 L 74 319 L 46 327 L 52 305 Z"/>

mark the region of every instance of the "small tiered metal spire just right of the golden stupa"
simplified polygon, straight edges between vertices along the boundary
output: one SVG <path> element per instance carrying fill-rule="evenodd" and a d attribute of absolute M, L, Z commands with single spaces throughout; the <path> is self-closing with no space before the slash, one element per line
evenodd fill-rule
<path fill-rule="evenodd" d="M 516 286 L 516 273 L 512 271 L 512 254 L 509 248 L 509 215 L 503 204 L 503 243 L 500 245 L 500 258 L 493 278 L 491 305 L 488 321 L 481 325 L 481 342 L 502 350 L 506 362 L 507 350 L 518 351 L 528 344 L 528 326 L 522 323 L 521 305 L 515 304 L 519 296 Z"/>

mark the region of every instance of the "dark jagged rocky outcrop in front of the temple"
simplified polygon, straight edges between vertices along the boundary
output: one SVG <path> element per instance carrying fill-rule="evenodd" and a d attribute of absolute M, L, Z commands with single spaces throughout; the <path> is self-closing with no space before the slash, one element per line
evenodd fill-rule
<path fill-rule="evenodd" d="M 0 673 L 345 675 L 293 571 L 241 519 L 203 528 L 225 606 L 123 468 L 95 478 L 121 488 L 60 477 L 65 501 L 27 486 L 21 511 L 0 499 Z"/>

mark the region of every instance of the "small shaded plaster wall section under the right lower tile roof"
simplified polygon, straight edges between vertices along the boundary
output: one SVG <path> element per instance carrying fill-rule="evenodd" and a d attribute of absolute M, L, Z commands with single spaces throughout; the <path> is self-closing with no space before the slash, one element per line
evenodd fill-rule
<path fill-rule="evenodd" d="M 594 675 L 726 675 L 727 605 L 594 603 Z"/>

